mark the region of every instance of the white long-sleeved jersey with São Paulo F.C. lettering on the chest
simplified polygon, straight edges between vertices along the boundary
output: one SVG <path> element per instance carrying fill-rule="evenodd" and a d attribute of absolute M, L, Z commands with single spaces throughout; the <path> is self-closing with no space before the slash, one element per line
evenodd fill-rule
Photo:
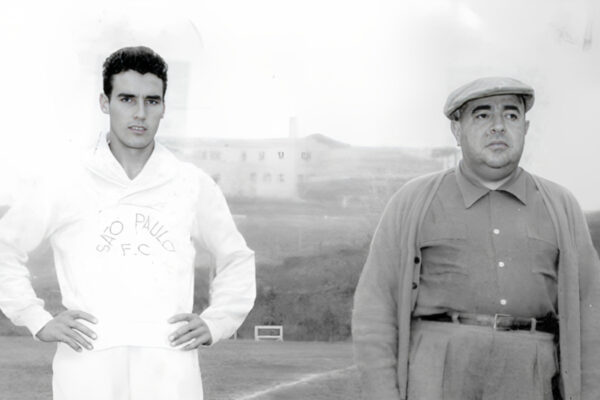
<path fill-rule="evenodd" d="M 81 168 L 54 176 L 0 219 L 0 308 L 36 334 L 52 316 L 31 286 L 27 254 L 49 239 L 67 309 L 98 319 L 94 348 L 170 347 L 167 322 L 193 305 L 194 243 L 216 262 L 201 314 L 213 343 L 231 336 L 256 295 L 254 253 L 200 169 L 156 143 L 131 180 L 100 140 Z"/>

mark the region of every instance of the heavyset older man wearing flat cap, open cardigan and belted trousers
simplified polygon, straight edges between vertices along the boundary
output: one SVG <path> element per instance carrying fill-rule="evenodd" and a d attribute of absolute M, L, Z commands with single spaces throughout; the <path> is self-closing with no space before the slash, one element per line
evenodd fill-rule
<path fill-rule="evenodd" d="M 519 167 L 533 89 L 483 78 L 444 113 L 458 167 L 391 199 L 354 299 L 365 399 L 600 399 L 600 261 L 564 188 Z"/>

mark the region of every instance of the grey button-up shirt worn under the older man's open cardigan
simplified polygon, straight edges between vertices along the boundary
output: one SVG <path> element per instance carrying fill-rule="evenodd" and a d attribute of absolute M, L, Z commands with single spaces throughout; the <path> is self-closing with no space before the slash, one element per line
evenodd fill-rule
<path fill-rule="evenodd" d="M 423 221 L 415 316 L 442 312 L 543 317 L 556 312 L 558 244 L 524 170 L 490 190 L 462 165 L 448 174 Z"/>

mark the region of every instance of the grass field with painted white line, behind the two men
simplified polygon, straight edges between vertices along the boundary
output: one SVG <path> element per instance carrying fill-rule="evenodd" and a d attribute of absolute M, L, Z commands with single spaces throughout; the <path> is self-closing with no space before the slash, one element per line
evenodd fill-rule
<path fill-rule="evenodd" d="M 0 336 L 0 399 L 49 400 L 55 346 Z M 200 351 L 206 400 L 358 398 L 348 342 L 224 341 Z"/>

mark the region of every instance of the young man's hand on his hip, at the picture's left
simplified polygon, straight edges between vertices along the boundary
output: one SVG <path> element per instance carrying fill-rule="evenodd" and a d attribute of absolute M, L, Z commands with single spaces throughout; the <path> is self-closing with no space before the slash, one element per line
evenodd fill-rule
<path fill-rule="evenodd" d="M 79 322 L 79 319 L 92 324 L 98 322 L 96 317 L 84 311 L 67 310 L 56 315 L 35 336 L 42 342 L 66 343 L 75 351 L 81 351 L 82 347 L 92 350 L 91 340 L 96 339 L 96 333 Z"/>

